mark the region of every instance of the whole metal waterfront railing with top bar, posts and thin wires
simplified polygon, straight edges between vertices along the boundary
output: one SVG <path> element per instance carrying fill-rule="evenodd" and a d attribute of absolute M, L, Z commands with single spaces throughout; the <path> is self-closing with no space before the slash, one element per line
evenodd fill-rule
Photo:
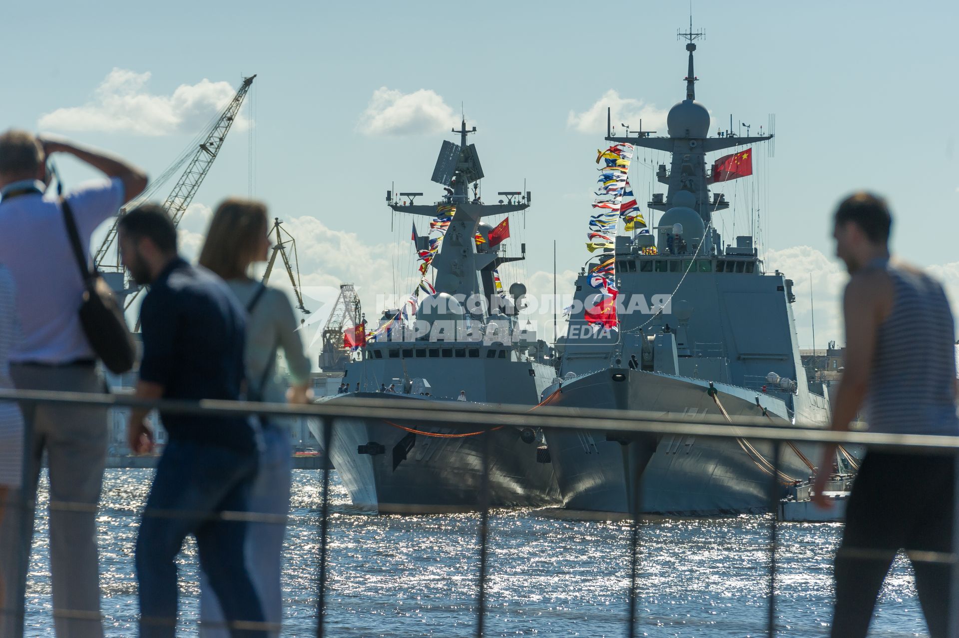
<path fill-rule="evenodd" d="M 401 402 L 397 403 L 389 399 L 348 399 L 334 402 L 322 402 L 309 405 L 288 405 L 275 403 L 255 403 L 248 401 L 222 401 L 222 400 L 200 400 L 200 401 L 172 401 L 158 400 L 146 401 L 137 399 L 132 395 L 122 394 L 90 394 L 82 392 L 58 392 L 58 391 L 40 391 L 40 390 L 0 390 L 0 401 L 19 401 L 21 405 L 29 406 L 35 404 L 54 405 L 54 406 L 85 406 L 109 408 L 150 408 L 158 409 L 169 414 L 193 414 L 208 417 L 232 416 L 232 415 L 252 415 L 263 414 L 278 417 L 307 417 L 316 418 L 322 424 L 322 446 L 324 450 L 331 447 L 333 432 L 337 428 L 354 427 L 351 424 L 358 418 L 363 419 L 389 419 L 391 421 L 403 421 L 416 423 L 421 428 L 469 428 L 471 431 L 490 432 L 503 427 L 513 428 L 551 428 L 554 430 L 573 430 L 573 431 L 596 431 L 605 435 L 608 439 L 631 441 L 628 444 L 650 444 L 651 441 L 658 440 L 658 437 L 678 436 L 678 437 L 716 437 L 716 438 L 743 438 L 748 437 L 751 441 L 763 441 L 772 446 L 772 458 L 769 460 L 772 468 L 768 481 L 768 504 L 770 512 L 777 512 L 781 505 L 782 487 L 781 482 L 781 461 L 784 450 L 788 447 L 794 447 L 797 443 L 818 443 L 818 444 L 840 444 L 840 445 L 863 445 L 871 450 L 881 450 L 884 452 L 898 452 L 904 454 L 918 454 L 929 456 L 952 456 L 959 462 L 959 437 L 930 436 L 930 435 L 893 435 L 893 434 L 874 434 L 867 432 L 831 432 L 822 429 L 804 428 L 804 427 L 784 427 L 772 424 L 768 419 L 750 419 L 737 418 L 736 420 L 722 419 L 711 416 L 698 416 L 695 421 L 690 421 L 677 415 L 676 418 L 664 417 L 661 414 L 596 410 L 591 411 L 588 417 L 585 417 L 582 411 L 571 411 L 566 408 L 540 406 L 530 410 L 528 406 L 497 406 L 495 412 L 490 411 L 488 407 L 483 407 L 470 403 L 444 403 L 434 402 Z M 416 403 L 419 405 L 403 405 L 406 403 Z M 453 424 L 456 424 L 455 426 Z M 27 437 L 30 437 L 29 424 L 27 426 Z M 480 435 L 481 436 L 481 435 Z M 478 495 L 479 510 L 479 552 L 477 556 L 478 574 L 476 579 L 476 600 L 474 609 L 474 629 L 471 633 L 479 638 L 486 635 L 487 621 L 487 585 L 490 573 L 495 569 L 490 564 L 490 465 L 493 461 L 493 451 L 490 449 L 489 437 L 481 437 L 484 444 L 481 446 L 481 470 L 482 481 Z M 29 440 L 29 438 L 28 438 Z M 655 444 L 654 442 L 652 444 Z M 328 458 L 327 458 L 328 459 Z M 24 455 L 25 468 L 29 467 L 29 454 Z M 321 474 L 321 489 L 318 503 L 318 524 L 316 529 L 316 629 L 314 635 L 318 638 L 328 635 L 338 635 L 339 627 L 331 626 L 328 616 L 330 585 L 329 575 L 335 565 L 330 563 L 330 518 L 331 518 L 331 494 L 330 494 L 330 474 L 332 468 L 328 461 L 324 462 Z M 25 474 L 27 470 L 25 469 Z M 959 495 L 959 472 L 955 473 L 957 489 L 954 492 Z M 643 549 L 642 523 L 643 516 L 639 513 L 643 511 L 642 503 L 642 473 L 634 474 L 632 477 L 633 499 L 630 510 L 633 514 L 629 517 L 630 541 L 627 561 L 629 564 L 629 589 L 628 589 L 628 612 L 625 614 L 625 623 L 623 634 L 634 638 L 637 635 L 647 635 L 643 632 L 643 619 L 640 617 L 638 603 L 639 592 L 641 588 L 640 578 L 640 560 Z M 32 496 L 28 497 L 23 490 L 16 490 L 16 494 L 8 499 L 8 508 L 15 508 L 26 513 L 22 519 L 33 520 L 35 513 L 35 501 Z M 51 503 L 51 508 L 63 510 L 86 511 L 89 506 L 86 504 L 71 503 Z M 944 503 L 943 507 L 951 508 L 953 517 L 952 526 L 952 550 L 947 553 L 923 552 L 910 553 L 910 558 L 916 562 L 930 562 L 948 565 L 951 578 L 951 589 L 949 592 L 949 611 L 947 623 L 948 638 L 959 638 L 959 558 L 956 550 L 959 549 L 959 499 L 953 499 L 952 503 Z M 9 513 L 9 512 L 8 512 Z M 162 513 L 150 511 L 144 512 L 145 515 L 161 515 L 164 518 L 175 516 L 172 511 L 164 510 Z M 186 512 L 184 515 L 188 515 Z M 250 511 L 223 511 L 220 514 L 222 520 L 233 520 L 243 522 L 267 523 L 275 525 L 286 525 L 287 517 L 267 514 L 262 512 Z M 781 585 L 780 575 L 778 573 L 779 564 L 777 556 L 781 549 L 781 538 L 779 533 L 778 516 L 768 515 L 766 522 L 768 524 L 768 542 L 766 548 L 768 551 L 768 561 L 765 565 L 766 581 L 766 614 L 765 630 L 766 636 L 772 638 L 779 635 L 787 627 L 797 628 L 792 622 L 788 624 L 778 615 L 777 612 L 777 587 Z M 20 531 L 31 533 L 32 523 L 29 527 L 20 526 Z M 22 536 L 21 536 L 22 538 Z M 17 547 L 20 547 L 17 545 Z M 877 559 L 887 558 L 886 552 L 871 550 L 869 548 L 844 548 L 848 555 L 859 559 Z M 20 552 L 20 554 L 23 554 Z M 3 616 L 14 616 L 14 632 L 12 635 L 16 638 L 23 637 L 23 621 L 25 617 L 25 587 L 20 586 L 24 581 L 25 570 L 28 568 L 24 556 L 18 556 L 17 566 L 14 571 L 14 579 L 7 582 L 8 591 L 13 591 L 13 604 L 5 605 L 0 611 Z M 10 600 L 10 598 L 8 598 Z M 90 620 L 90 612 L 83 610 L 71 610 L 54 608 L 53 616 L 59 619 L 80 619 Z M 170 619 L 176 623 L 177 619 Z M 652 621 L 656 623 L 656 621 Z M 129 621 L 135 625 L 135 620 Z M 204 626 L 211 626 L 209 623 L 203 623 Z M 257 626 L 257 624 L 243 623 L 246 629 L 275 629 L 275 626 Z M 707 625 L 717 628 L 714 621 Z M 128 625 L 130 626 L 130 625 Z M 219 628 L 216 624 L 213 628 Z M 33 627 L 35 628 L 35 627 Z M 808 626 L 813 632 L 824 631 L 823 626 Z M 709 630 L 707 630 L 709 631 Z M 750 631 L 751 635 L 756 635 Z M 892 635 L 892 634 L 884 634 Z M 912 633 L 903 635 L 914 635 Z"/>

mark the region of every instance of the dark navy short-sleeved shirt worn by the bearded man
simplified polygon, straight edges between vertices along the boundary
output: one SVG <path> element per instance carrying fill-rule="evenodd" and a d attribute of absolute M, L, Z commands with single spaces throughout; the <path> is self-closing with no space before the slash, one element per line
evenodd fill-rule
<path fill-rule="evenodd" d="M 244 381 L 246 311 L 222 279 L 177 257 L 152 283 L 140 308 L 140 379 L 165 399 L 238 399 Z M 160 414 L 171 440 L 255 448 L 245 416 Z"/>

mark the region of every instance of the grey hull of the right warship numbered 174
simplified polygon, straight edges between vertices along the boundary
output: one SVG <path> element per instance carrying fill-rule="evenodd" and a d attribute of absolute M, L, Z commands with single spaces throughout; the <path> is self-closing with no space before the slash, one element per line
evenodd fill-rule
<path fill-rule="evenodd" d="M 622 381 L 615 381 L 621 375 Z M 759 399 L 771 423 L 789 422 L 784 403 L 768 395 L 715 384 L 730 418 L 757 417 Z M 695 420 L 721 414 L 709 382 L 637 370 L 608 369 L 564 383 L 550 405 L 588 414 L 597 409 L 643 411 Z M 637 472 L 643 513 L 708 516 L 766 511 L 772 482 L 772 444 L 749 437 L 675 437 L 607 440 L 597 431 L 547 430 L 552 464 L 566 508 L 632 513 Z M 615 438 L 615 437 L 611 437 Z M 799 452 L 797 453 L 796 450 Z M 809 445 L 784 446 L 780 469 L 805 481 L 814 459 Z M 782 482 L 781 482 L 782 484 Z M 785 487 L 783 487 L 785 491 Z"/>

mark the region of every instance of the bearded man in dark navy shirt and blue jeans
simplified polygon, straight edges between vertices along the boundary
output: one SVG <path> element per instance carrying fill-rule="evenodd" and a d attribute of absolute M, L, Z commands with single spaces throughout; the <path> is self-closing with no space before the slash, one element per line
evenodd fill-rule
<path fill-rule="evenodd" d="M 136 396 L 143 399 L 238 399 L 243 385 L 244 309 L 222 279 L 176 254 L 176 229 L 163 207 L 146 204 L 119 223 L 124 266 L 141 285 L 143 362 Z M 152 450 L 148 411 L 131 411 L 129 446 Z M 264 617 L 246 572 L 246 523 L 223 512 L 246 511 L 257 470 L 259 432 L 244 416 L 168 414 L 169 434 L 153 478 L 136 544 L 140 635 L 173 638 L 176 564 L 188 534 L 210 579 L 230 634 L 266 637 Z M 235 517 L 233 517 L 235 518 Z"/>

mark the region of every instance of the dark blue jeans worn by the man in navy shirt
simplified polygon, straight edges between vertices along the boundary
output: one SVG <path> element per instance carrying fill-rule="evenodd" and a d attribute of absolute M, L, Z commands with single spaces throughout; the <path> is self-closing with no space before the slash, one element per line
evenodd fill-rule
<path fill-rule="evenodd" d="M 197 538 L 199 564 L 223 604 L 227 622 L 262 624 L 263 609 L 246 571 L 246 523 L 211 520 L 221 511 L 246 511 L 258 452 L 172 440 L 156 467 L 136 539 L 141 638 L 174 638 L 176 555 L 187 535 Z M 231 628 L 233 638 L 266 638 L 262 626 Z"/>

